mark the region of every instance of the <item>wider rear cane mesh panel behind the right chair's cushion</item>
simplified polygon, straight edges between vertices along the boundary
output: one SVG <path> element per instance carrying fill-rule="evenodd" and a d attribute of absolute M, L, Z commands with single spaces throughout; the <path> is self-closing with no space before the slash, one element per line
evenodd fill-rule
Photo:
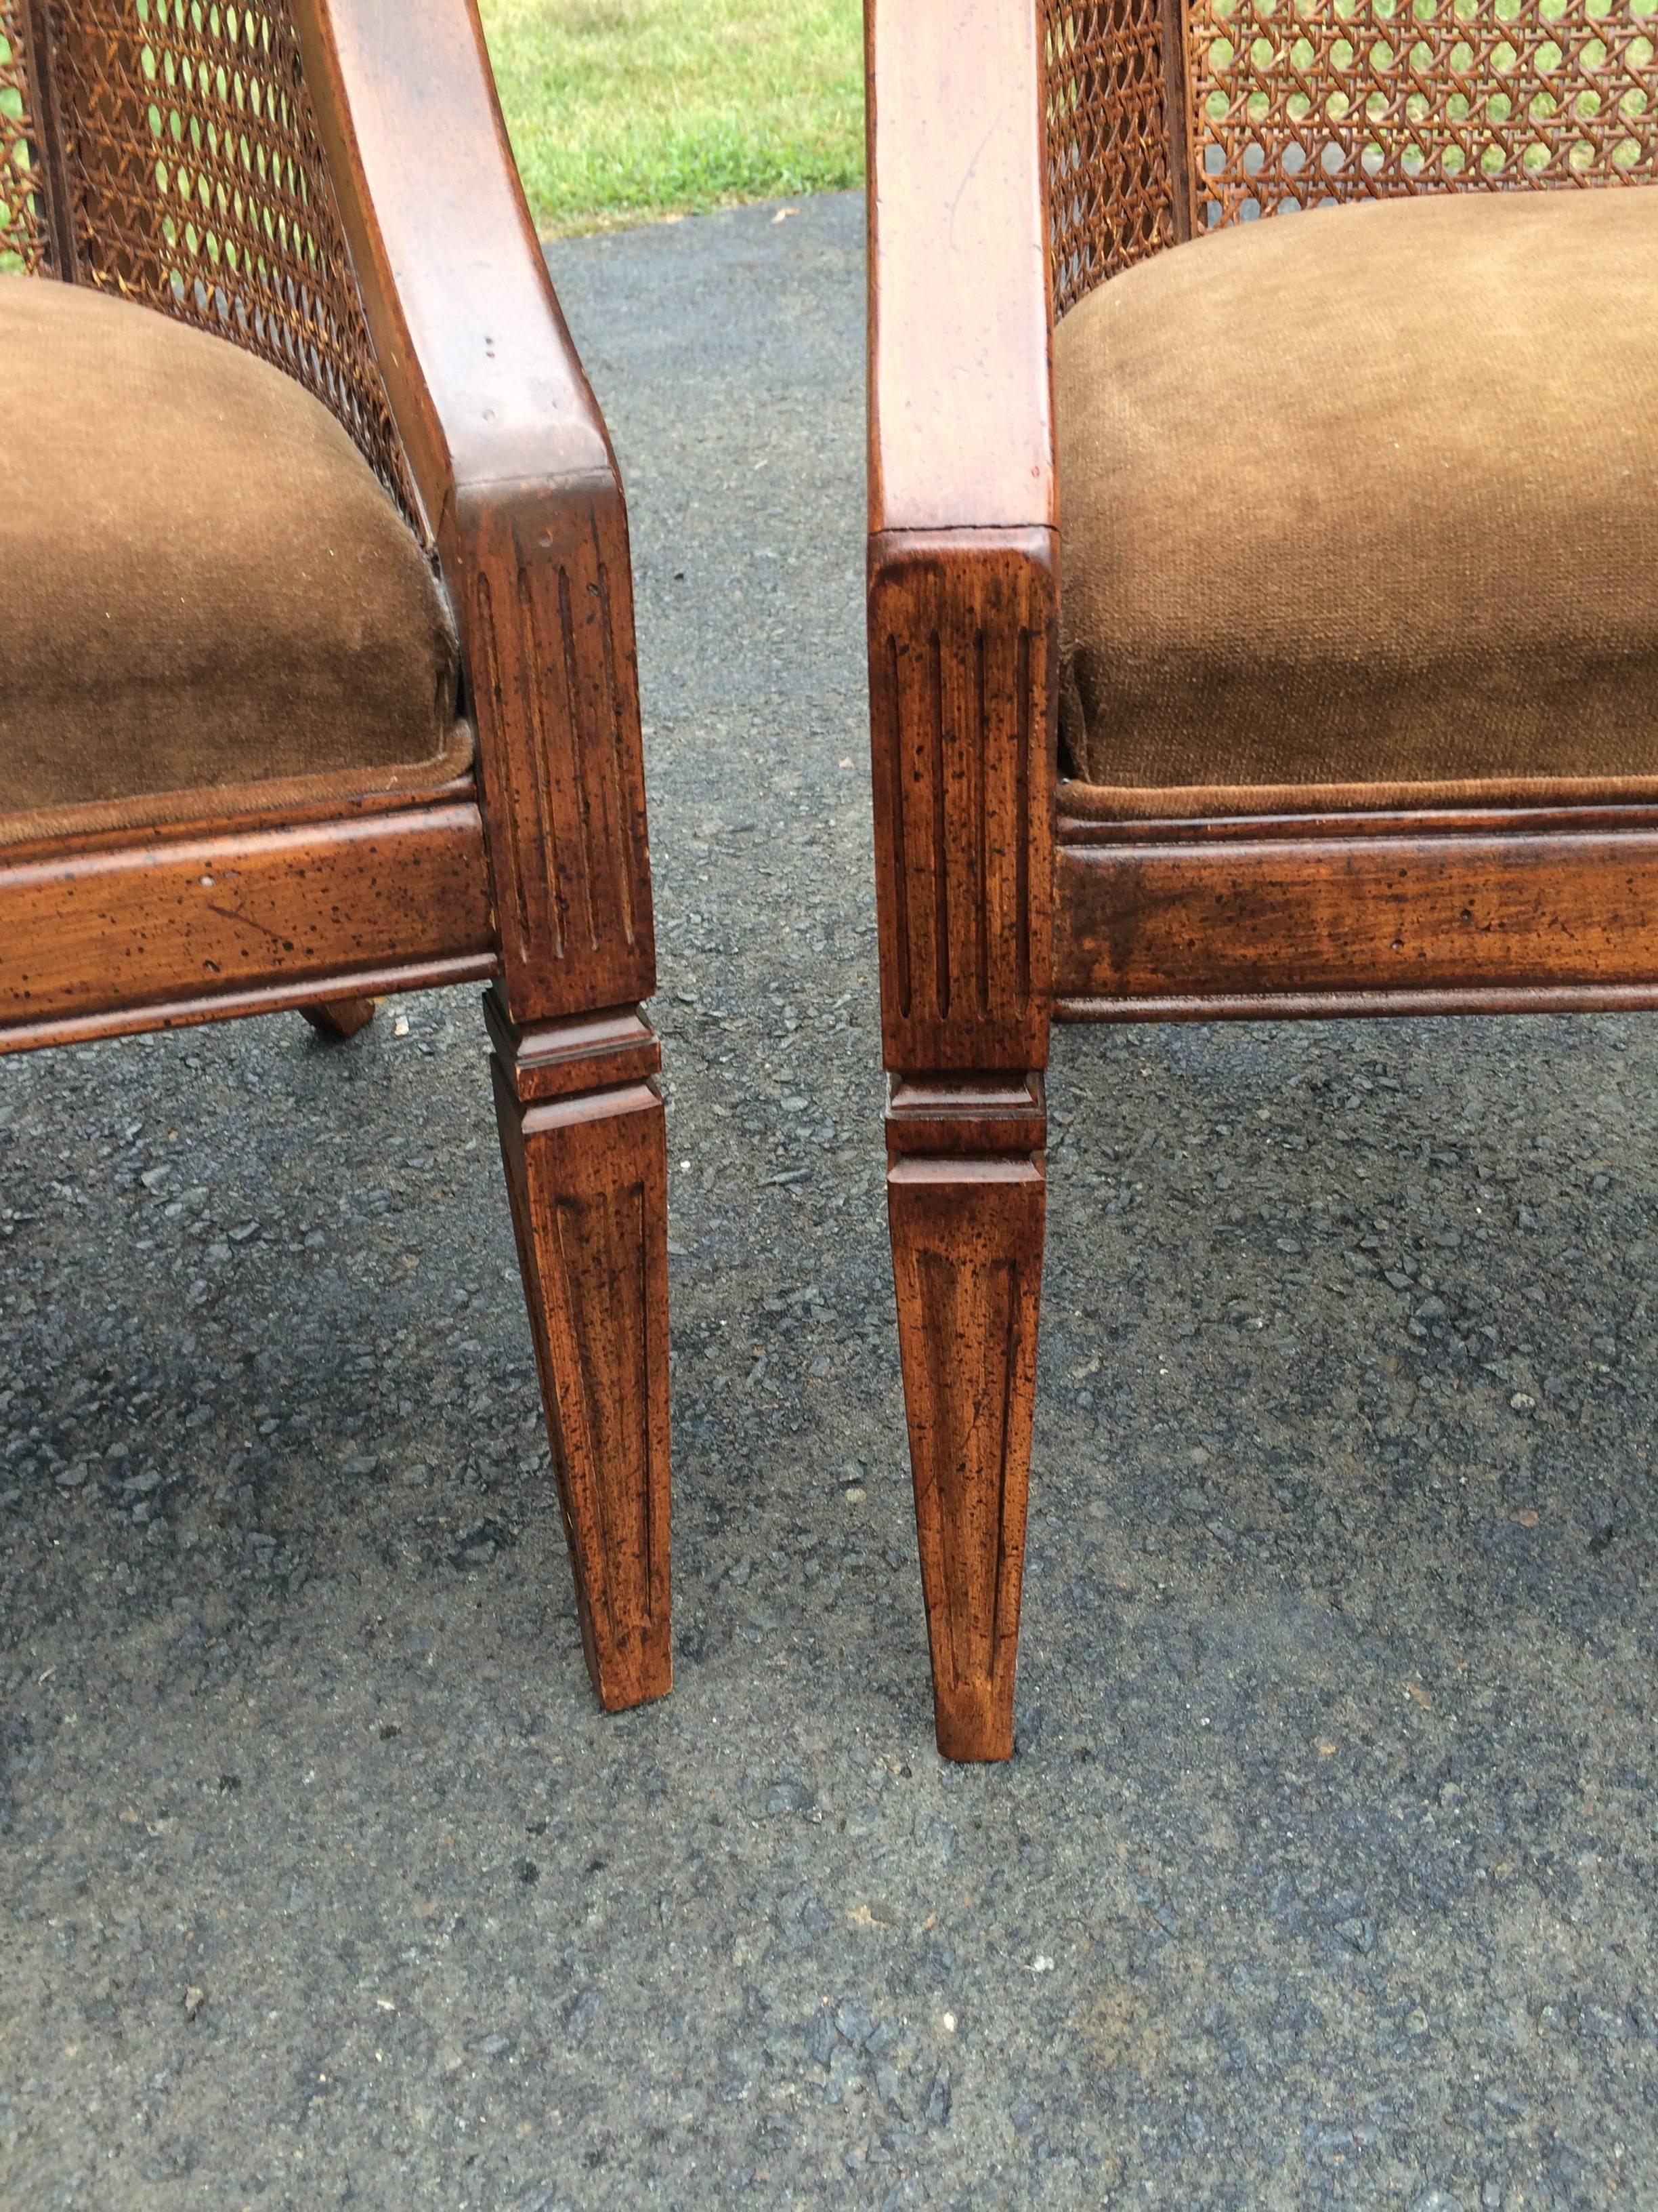
<path fill-rule="evenodd" d="M 1658 177 L 1658 0 L 1189 0 L 1198 228 Z"/>

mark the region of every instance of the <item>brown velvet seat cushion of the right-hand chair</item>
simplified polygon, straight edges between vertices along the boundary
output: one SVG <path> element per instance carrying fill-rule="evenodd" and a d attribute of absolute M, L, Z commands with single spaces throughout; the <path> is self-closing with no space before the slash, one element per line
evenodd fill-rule
<path fill-rule="evenodd" d="M 1081 812 L 1658 790 L 1658 190 L 1174 246 L 1054 403 Z"/>

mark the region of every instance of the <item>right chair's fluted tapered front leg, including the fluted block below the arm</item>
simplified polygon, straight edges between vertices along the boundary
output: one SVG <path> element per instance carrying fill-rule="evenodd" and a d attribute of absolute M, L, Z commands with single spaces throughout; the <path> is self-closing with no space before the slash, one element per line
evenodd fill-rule
<path fill-rule="evenodd" d="M 869 542 L 886 1210 L 937 1745 L 1008 1759 L 1041 1298 L 1048 531 Z"/>

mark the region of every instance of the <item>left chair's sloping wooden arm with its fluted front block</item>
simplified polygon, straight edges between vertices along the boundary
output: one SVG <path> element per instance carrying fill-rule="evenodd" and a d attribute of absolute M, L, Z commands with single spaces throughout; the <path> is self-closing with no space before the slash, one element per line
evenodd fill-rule
<path fill-rule="evenodd" d="M 515 1022 L 654 989 L 628 513 L 478 0 L 296 0 L 316 126 L 462 626 Z"/>

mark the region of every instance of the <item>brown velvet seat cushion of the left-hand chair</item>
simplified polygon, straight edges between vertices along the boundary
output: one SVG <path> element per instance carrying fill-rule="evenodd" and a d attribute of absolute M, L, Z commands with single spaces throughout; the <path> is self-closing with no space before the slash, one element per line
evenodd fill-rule
<path fill-rule="evenodd" d="M 0 843 L 466 763 L 438 577 L 321 400 L 24 276 L 0 279 Z"/>

